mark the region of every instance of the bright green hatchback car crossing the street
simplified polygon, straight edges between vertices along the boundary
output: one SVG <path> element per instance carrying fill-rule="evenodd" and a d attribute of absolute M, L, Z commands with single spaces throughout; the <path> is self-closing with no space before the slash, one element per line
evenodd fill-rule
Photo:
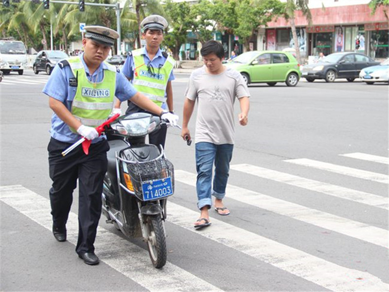
<path fill-rule="evenodd" d="M 288 52 L 249 51 L 224 64 L 240 72 L 247 84 L 285 82 L 296 86 L 301 77 L 300 64 Z"/>

